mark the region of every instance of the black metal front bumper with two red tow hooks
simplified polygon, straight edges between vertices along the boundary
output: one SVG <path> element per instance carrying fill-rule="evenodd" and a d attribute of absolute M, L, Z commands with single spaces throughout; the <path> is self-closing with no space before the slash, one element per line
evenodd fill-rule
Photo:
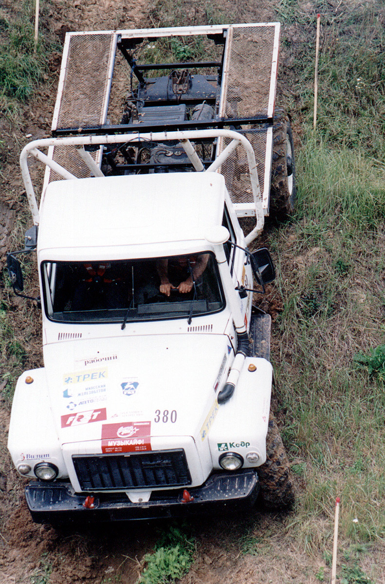
<path fill-rule="evenodd" d="M 251 506 L 259 492 L 258 475 L 254 470 L 214 474 L 202 486 L 188 488 L 188 492 L 193 497 L 189 503 L 182 502 L 183 489 L 153 491 L 148 502 L 131 503 L 125 493 L 102 493 L 99 498 L 96 493 L 78 495 L 66 482 L 32 482 L 25 489 L 27 505 L 37 523 L 157 519 Z M 93 509 L 83 506 L 87 495 L 95 497 Z"/>

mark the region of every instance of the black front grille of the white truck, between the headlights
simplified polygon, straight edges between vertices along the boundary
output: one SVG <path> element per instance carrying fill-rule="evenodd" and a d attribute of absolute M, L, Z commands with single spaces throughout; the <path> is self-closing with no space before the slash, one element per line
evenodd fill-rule
<path fill-rule="evenodd" d="M 191 483 L 185 451 L 72 456 L 82 491 L 151 489 Z"/>

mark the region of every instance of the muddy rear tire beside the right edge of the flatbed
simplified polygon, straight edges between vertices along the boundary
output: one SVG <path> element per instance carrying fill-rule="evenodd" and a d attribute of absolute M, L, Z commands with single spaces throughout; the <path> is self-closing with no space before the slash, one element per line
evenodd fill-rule
<path fill-rule="evenodd" d="M 296 165 L 289 118 L 278 112 L 273 126 L 272 179 L 270 217 L 285 220 L 294 212 L 296 202 Z"/>

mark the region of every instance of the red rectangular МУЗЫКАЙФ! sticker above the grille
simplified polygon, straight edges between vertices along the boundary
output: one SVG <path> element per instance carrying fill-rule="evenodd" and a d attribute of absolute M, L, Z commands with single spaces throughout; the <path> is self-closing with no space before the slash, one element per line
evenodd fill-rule
<path fill-rule="evenodd" d="M 120 422 L 103 424 L 102 452 L 140 452 L 151 450 L 151 422 Z"/>

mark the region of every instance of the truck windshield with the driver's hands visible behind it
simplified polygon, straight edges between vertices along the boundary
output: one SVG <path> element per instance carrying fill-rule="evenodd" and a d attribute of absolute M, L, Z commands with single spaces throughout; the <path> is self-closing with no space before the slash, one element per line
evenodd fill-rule
<path fill-rule="evenodd" d="M 47 317 L 130 322 L 197 317 L 224 308 L 213 253 L 100 262 L 43 262 Z"/>

